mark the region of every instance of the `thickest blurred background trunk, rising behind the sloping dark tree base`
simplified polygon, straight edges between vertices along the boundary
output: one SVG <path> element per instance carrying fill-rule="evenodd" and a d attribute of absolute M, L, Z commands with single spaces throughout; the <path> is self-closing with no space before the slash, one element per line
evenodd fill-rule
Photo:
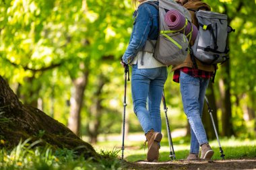
<path fill-rule="evenodd" d="M 84 71 L 82 77 L 73 79 L 73 91 L 71 91 L 71 109 L 68 121 L 68 128 L 72 130 L 77 136 L 80 135 L 81 126 L 81 109 L 84 101 L 84 91 L 88 83 L 89 71 Z"/>

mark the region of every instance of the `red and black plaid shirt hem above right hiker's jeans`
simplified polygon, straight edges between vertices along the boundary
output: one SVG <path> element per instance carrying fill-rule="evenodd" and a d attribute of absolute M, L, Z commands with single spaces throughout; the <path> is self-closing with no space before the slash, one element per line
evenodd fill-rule
<path fill-rule="evenodd" d="M 183 71 L 184 73 L 191 75 L 193 77 L 201 77 L 203 79 L 210 79 L 213 75 L 213 72 L 209 71 L 202 71 L 199 69 L 189 68 L 189 67 L 183 67 L 181 69 L 175 70 L 172 80 L 174 82 L 179 83 L 180 82 L 180 72 Z"/>

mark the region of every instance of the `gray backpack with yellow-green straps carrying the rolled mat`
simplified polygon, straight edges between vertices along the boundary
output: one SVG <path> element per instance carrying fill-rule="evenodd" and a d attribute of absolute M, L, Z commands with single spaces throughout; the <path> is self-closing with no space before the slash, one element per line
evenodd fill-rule
<path fill-rule="evenodd" d="M 164 22 L 164 16 L 170 9 L 176 9 L 185 16 L 187 22 L 191 22 L 189 11 L 172 0 L 159 0 L 159 7 L 150 1 L 146 3 L 154 5 L 159 10 L 160 33 L 156 42 L 147 40 L 143 51 L 152 52 L 150 49 L 152 49 L 153 46 L 154 58 L 156 58 L 156 60 L 168 66 L 180 65 L 189 52 L 189 40 L 187 40 L 185 34 L 180 32 L 181 30 L 170 30 Z M 185 26 L 187 26 L 187 22 Z"/>

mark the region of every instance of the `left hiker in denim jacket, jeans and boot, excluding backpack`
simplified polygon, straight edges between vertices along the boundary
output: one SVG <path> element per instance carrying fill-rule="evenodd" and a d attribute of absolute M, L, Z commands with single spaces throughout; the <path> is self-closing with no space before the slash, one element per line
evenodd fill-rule
<path fill-rule="evenodd" d="M 133 0 L 134 3 L 135 1 Z M 147 160 L 158 161 L 158 150 L 162 139 L 160 103 L 167 79 L 167 67 L 154 58 L 153 51 L 143 50 L 147 40 L 158 38 L 158 10 L 145 0 L 139 0 L 139 3 L 134 13 L 131 39 L 123 54 L 122 62 L 133 68 L 131 74 L 133 110 L 148 141 Z"/>

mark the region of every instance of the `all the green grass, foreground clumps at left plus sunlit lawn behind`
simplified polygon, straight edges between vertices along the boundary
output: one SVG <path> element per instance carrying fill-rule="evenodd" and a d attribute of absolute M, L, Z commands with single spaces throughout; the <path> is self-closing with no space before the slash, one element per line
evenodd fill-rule
<path fill-rule="evenodd" d="M 220 138 L 225 159 L 256 159 L 256 140 L 236 138 Z M 87 170 L 87 169 L 121 169 L 121 140 L 99 142 L 94 145 L 102 155 L 101 159 L 85 160 L 68 149 L 54 150 L 51 146 L 33 147 L 40 140 L 28 144 L 29 140 L 20 142 L 12 150 L 0 149 L 0 169 L 56 169 L 56 170 Z M 189 138 L 174 138 L 174 151 L 177 160 L 185 159 L 189 153 Z M 214 160 L 221 159 L 216 140 L 210 141 L 215 151 Z M 143 139 L 125 142 L 125 160 L 138 161 L 146 159 L 147 148 L 143 148 Z M 168 140 L 163 138 L 160 148 L 160 161 L 170 161 Z M 94 160 L 94 161 L 93 161 Z"/>

